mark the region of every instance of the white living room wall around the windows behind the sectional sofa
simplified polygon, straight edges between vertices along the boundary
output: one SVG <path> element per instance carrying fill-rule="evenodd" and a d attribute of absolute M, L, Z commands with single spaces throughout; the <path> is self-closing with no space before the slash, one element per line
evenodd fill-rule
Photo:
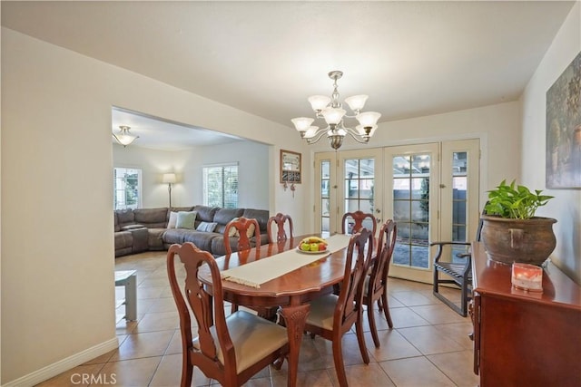
<path fill-rule="evenodd" d="M 142 169 L 143 208 L 167 207 L 169 197 L 162 174 L 175 172 L 172 206 L 202 204 L 202 167 L 228 162 L 238 163 L 240 208 L 270 208 L 270 146 L 254 141 L 236 141 L 191 150 L 162 151 L 113 144 L 113 166 Z"/>

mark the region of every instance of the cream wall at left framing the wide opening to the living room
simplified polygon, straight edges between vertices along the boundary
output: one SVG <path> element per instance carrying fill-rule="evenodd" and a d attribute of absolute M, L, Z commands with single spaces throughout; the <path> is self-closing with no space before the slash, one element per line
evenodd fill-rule
<path fill-rule="evenodd" d="M 5 28 L 2 53 L 0 383 L 31 385 L 117 343 L 112 106 L 261 140 L 271 154 L 302 144 L 291 128 Z"/>

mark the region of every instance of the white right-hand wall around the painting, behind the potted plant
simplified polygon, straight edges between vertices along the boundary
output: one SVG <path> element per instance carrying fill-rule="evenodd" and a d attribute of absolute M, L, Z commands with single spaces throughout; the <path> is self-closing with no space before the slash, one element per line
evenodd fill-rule
<path fill-rule="evenodd" d="M 522 182 L 545 189 L 547 90 L 581 52 L 581 3 L 576 2 L 523 93 Z M 581 173 L 581 171 L 577 171 Z M 555 198 L 537 215 L 556 218 L 553 262 L 581 284 L 581 189 L 546 189 Z"/>

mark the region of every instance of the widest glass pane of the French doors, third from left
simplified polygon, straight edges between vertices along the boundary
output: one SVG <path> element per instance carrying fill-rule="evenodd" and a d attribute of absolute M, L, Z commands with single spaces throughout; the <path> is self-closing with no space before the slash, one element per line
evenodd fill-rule
<path fill-rule="evenodd" d="M 428 268 L 430 155 L 393 157 L 393 208 L 398 222 L 394 264 Z"/>

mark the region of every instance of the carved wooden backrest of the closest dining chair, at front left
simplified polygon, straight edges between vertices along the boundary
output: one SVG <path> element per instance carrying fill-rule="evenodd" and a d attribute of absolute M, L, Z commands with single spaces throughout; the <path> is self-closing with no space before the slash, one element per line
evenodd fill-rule
<path fill-rule="evenodd" d="M 183 293 L 176 277 L 176 255 L 180 256 L 185 268 Z M 202 264 L 207 264 L 210 268 L 213 296 L 206 292 L 204 285 L 198 279 L 198 271 Z M 211 374 L 209 372 L 212 372 L 207 369 L 208 367 L 212 368 L 213 372 L 220 369 L 229 369 L 229 367 L 233 367 L 232 369 L 235 370 L 236 357 L 224 315 L 222 279 L 212 254 L 200 250 L 192 242 L 186 242 L 182 246 L 172 245 L 167 253 L 167 272 L 173 299 L 180 315 L 183 353 L 188 353 L 192 363 L 200 367 L 202 372 L 206 374 Z M 192 344 L 192 317 L 190 310 L 192 310 L 198 325 L 199 348 L 194 348 Z M 215 343 L 212 337 L 212 326 L 215 326 L 218 343 Z M 218 346 L 223 353 L 223 365 L 218 360 Z"/>

